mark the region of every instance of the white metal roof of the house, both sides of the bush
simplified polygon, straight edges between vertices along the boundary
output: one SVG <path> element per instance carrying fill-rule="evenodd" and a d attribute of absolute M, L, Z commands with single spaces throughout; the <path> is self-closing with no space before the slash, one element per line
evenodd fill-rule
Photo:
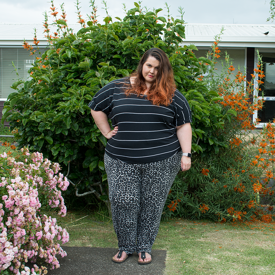
<path fill-rule="evenodd" d="M 80 24 L 70 24 L 70 28 L 77 32 Z M 275 48 L 275 26 L 271 24 L 262 25 L 240 25 L 240 24 L 185 24 L 185 41 L 183 44 L 194 44 L 196 46 L 210 46 L 218 35 L 221 28 L 220 46 L 226 47 L 265 47 Z M 3 24 L 0 23 L 0 45 L 22 45 L 23 39 L 32 42 L 36 28 L 39 45 L 47 45 L 43 24 Z M 54 31 L 55 27 L 50 26 Z M 269 31 L 268 35 L 264 35 Z"/>

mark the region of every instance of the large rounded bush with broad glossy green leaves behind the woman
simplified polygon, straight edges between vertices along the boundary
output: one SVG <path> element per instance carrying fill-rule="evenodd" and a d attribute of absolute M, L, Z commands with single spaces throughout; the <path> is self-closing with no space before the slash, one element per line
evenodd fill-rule
<path fill-rule="evenodd" d="M 179 46 L 185 36 L 184 21 L 158 16 L 162 9 L 143 12 L 140 5 L 135 6 L 123 20 L 116 17 L 119 21 L 113 22 L 107 16 L 101 25 L 92 2 L 90 20 L 85 23 L 78 13 L 82 28 L 73 34 L 64 10 L 63 19 L 57 20 L 52 1 L 53 25 L 58 30 L 50 35 L 45 16 L 49 49 L 30 69 L 30 81 L 13 84 L 17 91 L 9 95 L 3 110 L 2 121 L 7 119 L 11 130 L 18 129 L 19 147 L 28 145 L 30 150 L 61 163 L 69 171 L 77 196 L 94 193 L 108 207 L 103 163 L 106 139 L 87 104 L 109 81 L 129 76 L 146 50 L 159 47 L 171 61 L 178 90 L 189 101 L 193 113 L 193 152 L 207 156 L 225 147 L 217 131 L 232 115 L 216 103 L 221 99 L 218 93 L 197 79 L 211 61 L 196 58 L 194 45 Z M 38 44 L 37 40 L 34 44 Z M 24 47 L 33 53 L 28 43 L 24 42 Z"/>

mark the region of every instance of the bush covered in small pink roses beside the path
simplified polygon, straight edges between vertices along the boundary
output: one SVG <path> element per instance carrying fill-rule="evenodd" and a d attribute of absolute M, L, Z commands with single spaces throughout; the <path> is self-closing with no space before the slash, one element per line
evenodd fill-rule
<path fill-rule="evenodd" d="M 30 269 L 27 263 L 54 269 L 59 267 L 57 256 L 67 255 L 57 241 L 68 242 L 68 232 L 42 211 L 50 205 L 66 215 L 61 190 L 69 182 L 58 163 L 28 149 L 21 149 L 16 159 L 0 155 L 0 167 L 0 274 L 46 274 L 46 267 L 34 264 Z"/>

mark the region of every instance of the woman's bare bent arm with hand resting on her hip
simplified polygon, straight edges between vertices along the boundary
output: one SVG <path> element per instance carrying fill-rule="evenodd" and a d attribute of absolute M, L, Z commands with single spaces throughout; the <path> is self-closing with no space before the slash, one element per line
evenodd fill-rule
<path fill-rule="evenodd" d="M 94 111 L 91 109 L 91 114 L 94 118 L 94 122 L 98 129 L 105 136 L 105 138 L 110 139 L 117 133 L 118 127 L 116 126 L 114 130 L 111 130 L 110 124 L 108 122 L 108 117 L 105 112 Z"/>

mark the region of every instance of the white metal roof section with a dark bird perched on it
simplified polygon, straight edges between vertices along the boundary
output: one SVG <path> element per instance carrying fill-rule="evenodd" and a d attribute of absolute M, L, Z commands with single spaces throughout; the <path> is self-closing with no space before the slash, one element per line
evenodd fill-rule
<path fill-rule="evenodd" d="M 271 24 L 185 24 L 183 43 L 210 46 L 222 28 L 224 31 L 219 42 L 220 46 L 275 48 L 275 26 Z M 265 35 L 267 31 L 268 35 Z"/>

